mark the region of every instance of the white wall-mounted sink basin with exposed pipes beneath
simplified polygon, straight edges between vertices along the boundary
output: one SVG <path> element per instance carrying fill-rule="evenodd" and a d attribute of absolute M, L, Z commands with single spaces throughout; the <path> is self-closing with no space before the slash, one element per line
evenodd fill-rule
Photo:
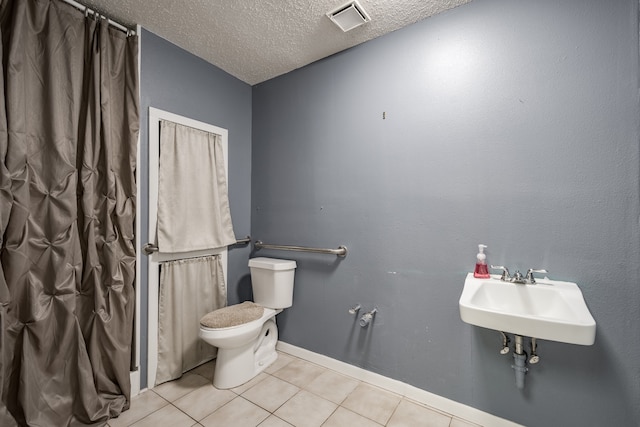
<path fill-rule="evenodd" d="M 592 345 L 596 338 L 593 320 L 578 285 L 540 279 L 534 285 L 500 280 L 464 281 L 460 317 L 466 323 L 570 344 Z"/>

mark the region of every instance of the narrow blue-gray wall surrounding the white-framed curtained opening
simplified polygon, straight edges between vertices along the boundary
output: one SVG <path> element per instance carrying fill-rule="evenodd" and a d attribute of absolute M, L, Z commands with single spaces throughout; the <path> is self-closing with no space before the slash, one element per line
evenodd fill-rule
<path fill-rule="evenodd" d="M 142 236 L 148 241 L 149 107 L 159 108 L 229 131 L 229 203 L 237 237 L 250 234 L 251 217 L 251 87 L 219 68 L 197 58 L 149 31 L 141 35 L 141 168 L 139 200 L 142 203 Z M 238 283 L 247 283 L 250 247 L 229 250 L 228 292 L 238 302 Z M 147 258 L 142 258 L 141 374 L 146 386 Z M 246 286 L 245 286 L 246 287 Z"/>

